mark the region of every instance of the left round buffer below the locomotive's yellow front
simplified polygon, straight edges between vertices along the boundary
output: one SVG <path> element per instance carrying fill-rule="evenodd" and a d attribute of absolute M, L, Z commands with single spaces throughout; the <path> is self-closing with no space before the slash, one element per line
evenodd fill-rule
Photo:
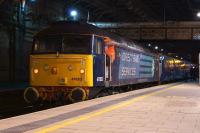
<path fill-rule="evenodd" d="M 35 103 L 39 99 L 39 92 L 33 87 L 28 87 L 24 91 L 24 100 L 27 103 Z"/>

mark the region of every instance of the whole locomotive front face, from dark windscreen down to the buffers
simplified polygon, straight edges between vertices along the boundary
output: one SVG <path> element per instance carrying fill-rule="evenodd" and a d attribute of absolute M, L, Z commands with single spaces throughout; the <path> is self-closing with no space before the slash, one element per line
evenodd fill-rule
<path fill-rule="evenodd" d="M 50 34 L 46 30 L 39 32 L 33 41 L 30 87 L 25 90 L 24 99 L 29 103 L 38 99 L 86 100 L 94 86 L 93 35 Z"/>

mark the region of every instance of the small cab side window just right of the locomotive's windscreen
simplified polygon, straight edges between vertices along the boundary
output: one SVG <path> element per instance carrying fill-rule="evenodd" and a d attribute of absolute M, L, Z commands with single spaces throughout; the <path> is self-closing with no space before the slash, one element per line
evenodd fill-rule
<path fill-rule="evenodd" d="M 103 39 L 100 37 L 95 39 L 94 52 L 99 55 L 103 53 Z"/>

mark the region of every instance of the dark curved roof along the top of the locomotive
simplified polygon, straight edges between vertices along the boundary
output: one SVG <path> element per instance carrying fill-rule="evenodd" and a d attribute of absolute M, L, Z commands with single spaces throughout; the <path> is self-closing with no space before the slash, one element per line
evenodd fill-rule
<path fill-rule="evenodd" d="M 105 30 L 102 30 L 88 23 L 59 21 L 41 30 L 35 35 L 35 37 L 40 38 L 48 35 L 63 35 L 63 34 L 91 34 L 91 35 L 95 34 L 99 36 L 110 37 L 114 41 L 118 42 L 119 46 L 129 47 L 129 48 L 131 47 L 138 51 L 148 51 L 149 53 L 151 53 L 149 50 L 136 45 L 130 40 L 122 38 L 116 34 L 109 33 Z"/>

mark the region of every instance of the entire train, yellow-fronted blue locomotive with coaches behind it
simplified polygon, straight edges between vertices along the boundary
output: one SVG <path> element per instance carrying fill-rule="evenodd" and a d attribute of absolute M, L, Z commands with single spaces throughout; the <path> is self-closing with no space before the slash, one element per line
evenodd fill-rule
<path fill-rule="evenodd" d="M 93 25 L 57 22 L 34 37 L 24 99 L 77 102 L 102 90 L 181 79 L 189 72 L 188 62 L 155 54 Z"/>

